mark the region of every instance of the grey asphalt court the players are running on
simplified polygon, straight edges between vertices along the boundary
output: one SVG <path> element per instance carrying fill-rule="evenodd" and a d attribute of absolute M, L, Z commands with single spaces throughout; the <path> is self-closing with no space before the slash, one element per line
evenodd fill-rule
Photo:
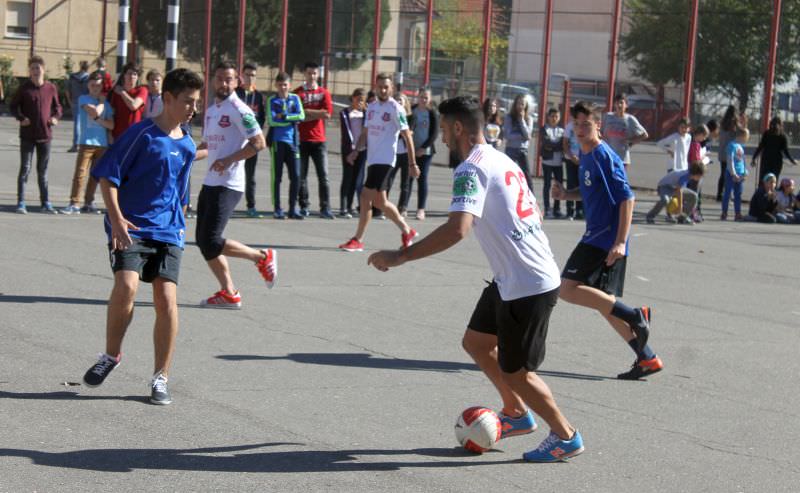
<path fill-rule="evenodd" d="M 58 206 L 75 156 L 64 152 L 67 135 L 58 129 L 50 165 Z M 617 381 L 630 349 L 599 315 L 559 303 L 541 374 L 586 452 L 533 465 L 520 457 L 545 437 L 542 423 L 481 456 L 456 447 L 462 409 L 500 404 L 460 348 L 490 276 L 474 238 L 380 273 L 366 265 L 369 251 L 400 241 L 386 221 L 370 224 L 368 251 L 347 254 L 336 245 L 355 220 L 239 211 L 228 236 L 277 248 L 278 284 L 267 290 L 252 266 L 234 261 L 243 309 L 212 311 L 197 307 L 216 287 L 190 222 L 175 402 L 156 407 L 146 401 L 147 285 L 122 365 L 97 389 L 72 385 L 103 349 L 111 273 L 102 218 L 36 213 L 35 181 L 32 212 L 13 213 L 18 148 L 7 119 L 0 159 L 0 491 L 798 489 L 797 227 L 719 222 L 713 201 L 702 224 L 646 225 L 654 196 L 639 192 L 624 301 L 654 307 L 651 341 L 666 368 L 646 382 Z M 204 169 L 194 170 L 195 196 Z M 310 181 L 316 203 L 313 172 Z M 445 218 L 449 171 L 435 168 L 431 182 L 429 219 L 412 220 L 423 235 Z M 582 228 L 545 223 L 560 266 Z"/>

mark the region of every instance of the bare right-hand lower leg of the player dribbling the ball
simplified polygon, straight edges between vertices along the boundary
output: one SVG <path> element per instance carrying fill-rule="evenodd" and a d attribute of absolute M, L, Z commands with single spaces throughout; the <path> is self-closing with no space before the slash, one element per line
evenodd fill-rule
<path fill-rule="evenodd" d="M 561 414 L 550 387 L 539 378 L 539 375 L 522 368 L 514 373 L 503 372 L 502 378 L 536 414 L 541 416 L 553 433 L 562 440 L 572 438 L 575 428 Z"/>

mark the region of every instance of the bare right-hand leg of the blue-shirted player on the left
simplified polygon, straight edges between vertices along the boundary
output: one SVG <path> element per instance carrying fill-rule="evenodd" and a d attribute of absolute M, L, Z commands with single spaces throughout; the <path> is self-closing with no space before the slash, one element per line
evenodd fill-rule
<path fill-rule="evenodd" d="M 153 306 L 156 309 L 156 323 L 153 327 L 153 348 L 155 366 L 153 374 L 169 373 L 175 339 L 178 337 L 177 286 L 161 277 L 153 281 Z"/>

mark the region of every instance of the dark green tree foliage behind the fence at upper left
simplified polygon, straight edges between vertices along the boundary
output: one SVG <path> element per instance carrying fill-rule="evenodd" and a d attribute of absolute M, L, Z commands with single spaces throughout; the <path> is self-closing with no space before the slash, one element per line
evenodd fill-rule
<path fill-rule="evenodd" d="M 381 9 L 381 38 L 390 20 L 389 2 Z M 167 21 L 163 0 L 140 0 L 137 22 L 141 45 L 164 56 Z M 236 59 L 239 23 L 239 2 L 213 0 L 211 29 L 211 59 Z M 232 8 L 233 7 L 233 8 Z M 245 59 L 259 65 L 277 65 L 280 49 L 280 28 L 283 2 L 281 0 L 248 0 L 245 15 Z M 375 3 L 354 0 L 333 2 L 334 47 L 342 49 L 338 40 L 352 39 L 349 50 L 372 51 L 375 24 Z M 321 59 L 325 46 L 325 0 L 292 0 L 289 2 L 286 60 L 287 66 L 302 68 L 304 62 Z M 178 49 L 190 61 L 201 61 L 205 55 L 205 0 L 182 0 Z M 357 28 L 357 35 L 350 31 Z M 342 34 L 345 33 L 345 34 Z M 338 47 L 337 47 L 338 45 Z M 331 60 L 338 69 L 347 60 Z M 363 63 L 363 62 L 362 62 Z"/>

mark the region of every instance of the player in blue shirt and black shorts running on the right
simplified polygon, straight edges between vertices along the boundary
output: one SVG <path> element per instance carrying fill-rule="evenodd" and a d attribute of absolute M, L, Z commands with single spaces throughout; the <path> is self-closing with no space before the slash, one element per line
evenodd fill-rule
<path fill-rule="evenodd" d="M 581 144 L 579 188 L 565 190 L 554 182 L 552 191 L 556 200 L 583 201 L 586 232 L 561 273 L 560 297 L 593 308 L 608 320 L 636 353 L 631 369 L 617 378 L 638 380 L 664 365 L 647 345 L 651 309 L 631 308 L 617 300 L 625 285 L 633 191 L 622 160 L 600 139 L 600 109 L 578 102 L 572 118 Z"/>

